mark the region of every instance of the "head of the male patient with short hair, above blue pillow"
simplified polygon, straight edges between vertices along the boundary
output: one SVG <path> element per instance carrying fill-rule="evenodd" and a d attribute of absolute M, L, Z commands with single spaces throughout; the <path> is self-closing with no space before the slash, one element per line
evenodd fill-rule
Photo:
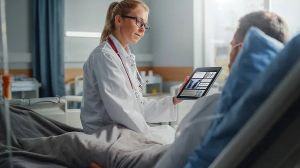
<path fill-rule="evenodd" d="M 239 19 L 237 30 L 230 42 L 230 69 L 235 57 L 242 46 L 243 39 L 251 26 L 255 26 L 268 36 L 276 40 L 286 43 L 289 40 L 288 28 L 285 21 L 275 13 L 269 11 L 255 11 L 248 13 Z"/>

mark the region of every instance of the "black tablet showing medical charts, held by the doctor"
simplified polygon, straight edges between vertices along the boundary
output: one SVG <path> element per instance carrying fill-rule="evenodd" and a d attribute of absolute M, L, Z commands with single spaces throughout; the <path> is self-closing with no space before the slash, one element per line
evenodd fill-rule
<path fill-rule="evenodd" d="M 205 96 L 221 70 L 222 67 L 197 68 L 177 95 L 177 99 L 196 100 Z"/>

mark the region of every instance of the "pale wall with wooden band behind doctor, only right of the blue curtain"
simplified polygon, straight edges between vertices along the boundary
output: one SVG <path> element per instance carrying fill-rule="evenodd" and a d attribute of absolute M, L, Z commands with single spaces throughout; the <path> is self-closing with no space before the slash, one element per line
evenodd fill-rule
<path fill-rule="evenodd" d="M 65 0 L 65 31 L 102 30 L 109 3 L 113 0 Z M 130 44 L 139 70 L 153 70 L 163 78 L 163 91 L 180 83 L 193 70 L 193 0 L 143 0 L 149 8 L 150 31 L 137 44 Z M 99 7 L 95 7 L 99 6 Z M 200 9 L 199 9 L 200 10 Z M 89 11 L 80 12 L 78 11 Z M 200 12 L 200 11 L 199 11 Z M 97 20 L 97 21 L 95 21 Z M 201 20 L 200 20 L 201 21 Z M 72 83 L 82 73 L 82 64 L 97 38 L 64 37 L 65 78 Z"/>

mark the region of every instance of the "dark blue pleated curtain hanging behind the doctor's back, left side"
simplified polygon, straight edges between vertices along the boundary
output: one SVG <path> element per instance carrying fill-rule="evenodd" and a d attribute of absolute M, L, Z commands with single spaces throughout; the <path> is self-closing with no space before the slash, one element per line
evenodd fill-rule
<path fill-rule="evenodd" d="M 64 0 L 33 0 L 33 77 L 40 97 L 63 96 Z"/>

